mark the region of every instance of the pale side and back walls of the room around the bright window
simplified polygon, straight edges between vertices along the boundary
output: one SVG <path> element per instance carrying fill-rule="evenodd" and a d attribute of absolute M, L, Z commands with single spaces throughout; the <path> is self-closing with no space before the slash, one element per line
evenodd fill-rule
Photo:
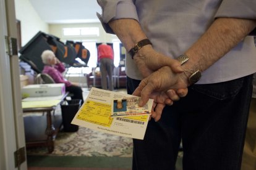
<path fill-rule="evenodd" d="M 49 11 L 46 11 L 49 12 Z M 43 31 L 45 33 L 53 34 L 64 41 L 68 40 L 77 40 L 83 39 L 88 40 L 90 39 L 96 40 L 96 42 L 112 42 L 113 39 L 116 39 L 116 36 L 112 34 L 105 33 L 105 30 L 101 26 L 101 23 L 77 23 L 77 24 L 48 24 L 41 20 L 40 16 L 37 14 L 36 10 L 33 8 L 32 4 L 29 0 L 15 0 L 15 13 L 17 20 L 20 20 L 21 25 L 21 39 L 22 39 L 22 46 L 27 44 L 30 39 L 35 36 L 38 31 Z M 99 27 L 100 28 L 100 36 L 99 37 L 70 37 L 64 38 L 62 35 L 62 28 L 69 28 L 69 27 Z"/>

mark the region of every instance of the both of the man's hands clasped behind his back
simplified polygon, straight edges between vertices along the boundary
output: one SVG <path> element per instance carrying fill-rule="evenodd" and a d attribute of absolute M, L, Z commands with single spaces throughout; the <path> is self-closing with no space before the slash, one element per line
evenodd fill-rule
<path fill-rule="evenodd" d="M 151 117 L 158 121 L 165 105 L 187 95 L 187 77 L 181 63 L 160 54 L 151 47 L 143 47 L 134 55 L 134 62 L 144 79 L 133 95 L 140 96 L 139 105 L 143 106 L 148 99 L 153 99 Z"/>

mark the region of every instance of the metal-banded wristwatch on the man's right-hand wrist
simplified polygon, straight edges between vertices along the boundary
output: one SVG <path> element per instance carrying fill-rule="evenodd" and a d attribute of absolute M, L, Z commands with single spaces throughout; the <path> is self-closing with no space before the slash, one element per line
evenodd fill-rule
<path fill-rule="evenodd" d="M 183 65 L 184 63 L 187 62 L 187 60 L 189 60 L 189 57 L 187 57 L 186 54 L 182 54 L 182 55 L 179 55 L 179 57 L 177 57 L 177 59 L 181 65 Z M 185 73 L 186 75 L 186 73 Z M 188 79 L 189 79 L 189 86 L 191 86 L 192 84 L 195 84 L 197 83 L 197 81 L 201 78 L 201 71 L 200 70 L 197 70 L 195 71 L 194 73 L 192 73 L 192 75 L 188 76 Z"/>

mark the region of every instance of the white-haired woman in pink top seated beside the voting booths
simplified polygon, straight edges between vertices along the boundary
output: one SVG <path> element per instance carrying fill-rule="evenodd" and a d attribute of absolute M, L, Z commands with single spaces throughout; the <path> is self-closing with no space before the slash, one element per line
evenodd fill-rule
<path fill-rule="evenodd" d="M 55 57 L 53 51 L 46 50 L 41 54 L 41 59 L 43 63 L 45 63 L 45 67 L 43 68 L 43 73 L 48 74 L 53 78 L 55 83 L 64 83 L 66 87 L 66 91 L 74 94 L 72 99 L 81 99 L 83 103 L 83 95 L 82 88 L 75 83 L 71 83 L 67 81 L 62 73 L 66 70 L 64 65 Z"/>

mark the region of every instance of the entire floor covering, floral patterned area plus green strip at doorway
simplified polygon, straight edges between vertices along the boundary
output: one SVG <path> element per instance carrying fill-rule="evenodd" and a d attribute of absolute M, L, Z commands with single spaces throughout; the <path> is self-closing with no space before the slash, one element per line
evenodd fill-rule
<path fill-rule="evenodd" d="M 88 89 L 83 89 L 84 99 L 88 92 Z M 61 114 L 60 107 L 55 114 Z M 79 126 L 77 132 L 60 131 L 52 153 L 48 153 L 46 147 L 27 148 L 28 170 L 129 170 L 132 167 L 132 149 L 130 138 Z M 176 169 L 182 169 L 182 152 Z"/>

